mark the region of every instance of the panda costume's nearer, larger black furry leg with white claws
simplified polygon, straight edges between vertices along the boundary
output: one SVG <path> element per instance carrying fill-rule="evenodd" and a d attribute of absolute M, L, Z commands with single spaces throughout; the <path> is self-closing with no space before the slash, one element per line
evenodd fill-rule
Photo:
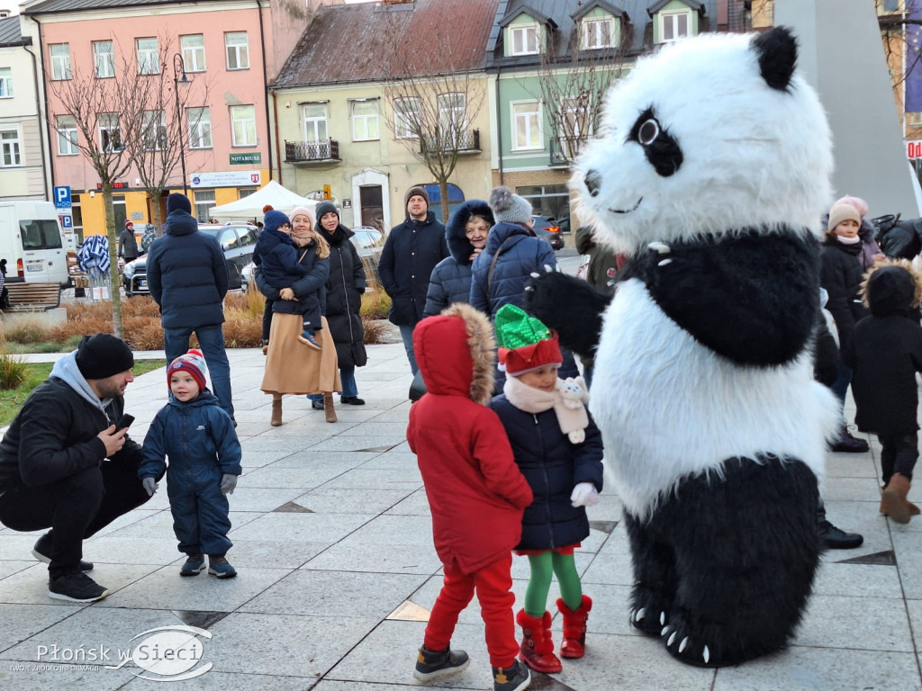
<path fill-rule="evenodd" d="M 726 482 L 694 481 L 679 497 L 668 652 L 723 667 L 783 649 L 819 564 L 815 476 L 798 461 L 728 464 Z"/>

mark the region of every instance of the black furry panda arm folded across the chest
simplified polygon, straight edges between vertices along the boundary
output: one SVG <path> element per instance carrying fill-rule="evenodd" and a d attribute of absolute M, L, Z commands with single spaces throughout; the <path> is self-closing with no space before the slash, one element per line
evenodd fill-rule
<path fill-rule="evenodd" d="M 644 252 L 638 275 L 672 321 L 744 365 L 782 365 L 808 343 L 820 307 L 815 240 L 740 231 Z"/>

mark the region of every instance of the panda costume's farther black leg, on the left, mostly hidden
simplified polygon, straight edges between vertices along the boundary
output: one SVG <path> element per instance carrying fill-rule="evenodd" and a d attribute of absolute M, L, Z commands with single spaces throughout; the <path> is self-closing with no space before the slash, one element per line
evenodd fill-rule
<path fill-rule="evenodd" d="M 631 626 L 659 636 L 675 597 L 675 554 L 670 545 L 656 538 L 650 521 L 639 521 L 625 511 L 624 524 L 631 541 L 634 574 Z"/>

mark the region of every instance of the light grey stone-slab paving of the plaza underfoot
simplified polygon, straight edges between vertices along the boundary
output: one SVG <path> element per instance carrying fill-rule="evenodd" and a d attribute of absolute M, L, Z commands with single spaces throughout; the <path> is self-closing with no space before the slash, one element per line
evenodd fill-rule
<path fill-rule="evenodd" d="M 156 354 L 155 354 L 156 355 Z M 441 584 L 431 523 L 416 459 L 405 439 L 410 382 L 403 347 L 373 345 L 358 370 L 364 407 L 337 406 L 327 424 L 303 397 L 286 397 L 285 424 L 269 426 L 268 396 L 259 391 L 264 357 L 230 352 L 240 484 L 231 496 L 231 563 L 240 575 L 219 581 L 181 579 L 166 492 L 85 543 L 94 579 L 112 594 L 80 605 L 51 600 L 47 571 L 30 555 L 39 533 L 0 529 L 0 688 L 10 691 L 266 689 L 266 691 L 407 691 L 428 608 Z M 162 354 L 160 354 L 162 357 Z M 143 440 L 164 403 L 164 370 L 138 377 L 127 392 Z M 721 670 L 674 662 L 656 639 L 628 626 L 632 582 L 618 498 L 604 493 L 589 509 L 592 535 L 577 552 L 585 592 L 595 606 L 587 653 L 553 677 L 535 674 L 532 688 L 742 691 L 922 688 L 916 638 L 922 631 L 922 521 L 900 526 L 882 518 L 880 447 L 830 454 L 825 497 L 830 518 L 865 535 L 865 544 L 826 554 L 810 610 L 784 653 Z M 916 497 L 918 497 L 916 490 Z M 521 606 L 528 577 L 514 560 Z M 551 597 L 556 599 L 556 589 Z M 560 615 L 554 619 L 560 645 Z M 137 653 L 157 627 L 207 629 L 189 674 L 161 670 Z M 143 634 L 143 635 L 142 635 Z M 135 640 L 132 638 L 138 637 Z M 462 615 L 453 641 L 471 657 L 465 673 L 438 685 L 490 689 L 490 663 L 475 607 Z M 81 667 L 73 656 L 109 650 L 109 666 Z M 52 651 L 58 650 L 54 662 Z M 75 652 L 77 651 L 77 652 Z M 134 652 L 133 652 L 134 651 Z M 40 654 L 41 653 L 41 654 Z M 142 665 L 137 664 L 138 661 Z M 186 667 L 179 670 L 185 672 Z"/>

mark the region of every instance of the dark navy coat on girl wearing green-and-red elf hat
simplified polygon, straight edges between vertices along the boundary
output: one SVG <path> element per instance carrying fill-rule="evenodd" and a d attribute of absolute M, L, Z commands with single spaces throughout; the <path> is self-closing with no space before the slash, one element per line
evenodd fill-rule
<path fill-rule="evenodd" d="M 533 415 L 516 408 L 505 394 L 489 404 L 502 420 L 515 463 L 535 500 L 522 517 L 522 541 L 516 549 L 551 549 L 575 545 L 589 535 L 585 508 L 573 508 L 570 495 L 581 482 L 602 490 L 602 436 L 589 418 L 585 441 L 573 444 L 553 409 Z"/>

